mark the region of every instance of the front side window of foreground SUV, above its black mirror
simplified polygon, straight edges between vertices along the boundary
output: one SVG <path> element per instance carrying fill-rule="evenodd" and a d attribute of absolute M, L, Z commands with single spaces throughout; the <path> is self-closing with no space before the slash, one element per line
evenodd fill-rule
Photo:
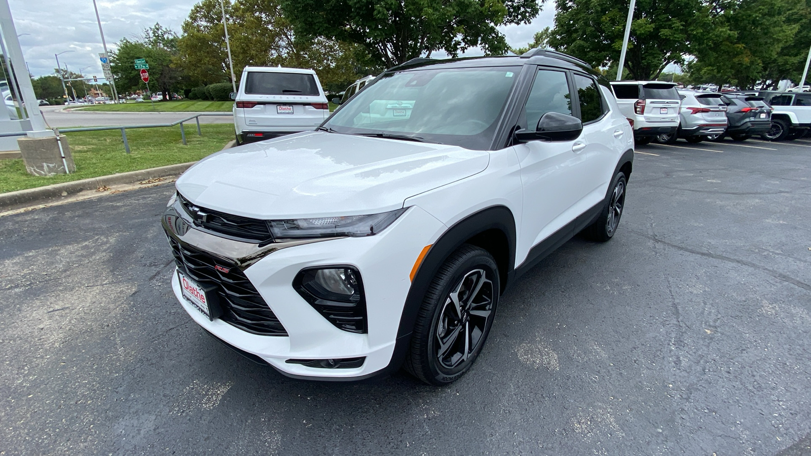
<path fill-rule="evenodd" d="M 526 128 L 534 130 L 543 114 L 572 115 L 572 95 L 563 71 L 539 70 L 526 100 Z"/>

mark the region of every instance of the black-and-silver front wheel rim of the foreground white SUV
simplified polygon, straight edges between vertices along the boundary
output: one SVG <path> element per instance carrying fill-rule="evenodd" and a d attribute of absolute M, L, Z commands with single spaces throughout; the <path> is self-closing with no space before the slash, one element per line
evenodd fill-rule
<path fill-rule="evenodd" d="M 453 287 L 436 324 L 436 359 L 446 369 L 458 368 L 484 342 L 493 317 L 493 282 L 484 269 L 474 269 Z"/>

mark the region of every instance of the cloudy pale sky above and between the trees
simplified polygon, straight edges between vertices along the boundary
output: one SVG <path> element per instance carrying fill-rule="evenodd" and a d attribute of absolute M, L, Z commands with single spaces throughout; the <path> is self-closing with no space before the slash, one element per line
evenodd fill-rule
<path fill-rule="evenodd" d="M 199 1 L 97 0 L 108 49 L 121 38 L 138 35 L 156 22 L 180 32 L 191 6 Z M 71 71 L 88 67 L 84 75 L 101 76 L 98 53 L 104 49 L 92 0 L 9 0 L 9 6 L 17 33 L 23 34 L 19 41 L 32 75 L 53 74 L 54 54 L 69 50 L 72 52 L 59 56 L 62 67 L 66 63 Z M 510 45 L 526 45 L 534 32 L 552 25 L 554 15 L 554 0 L 547 0 L 544 11 L 532 24 L 510 25 L 501 31 Z M 441 55 L 435 53 L 434 57 Z"/>

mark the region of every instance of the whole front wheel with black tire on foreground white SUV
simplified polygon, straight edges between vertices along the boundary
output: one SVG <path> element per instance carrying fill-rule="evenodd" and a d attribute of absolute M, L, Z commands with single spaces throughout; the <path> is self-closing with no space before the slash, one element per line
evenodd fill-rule
<path fill-rule="evenodd" d="M 499 292 L 499 269 L 486 250 L 465 244 L 448 256 L 423 296 L 405 370 L 436 386 L 464 375 L 487 341 Z"/>

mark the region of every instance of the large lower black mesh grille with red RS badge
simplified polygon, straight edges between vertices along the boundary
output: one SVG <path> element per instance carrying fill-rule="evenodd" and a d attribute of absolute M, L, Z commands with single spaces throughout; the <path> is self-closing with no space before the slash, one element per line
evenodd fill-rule
<path fill-rule="evenodd" d="M 220 319 L 248 333 L 263 336 L 286 336 L 281 321 L 268 307 L 245 273 L 233 263 L 215 258 L 200 249 L 169 238 L 178 268 L 200 286 L 212 284 L 219 297 Z M 215 265 L 229 269 L 222 273 Z"/>

